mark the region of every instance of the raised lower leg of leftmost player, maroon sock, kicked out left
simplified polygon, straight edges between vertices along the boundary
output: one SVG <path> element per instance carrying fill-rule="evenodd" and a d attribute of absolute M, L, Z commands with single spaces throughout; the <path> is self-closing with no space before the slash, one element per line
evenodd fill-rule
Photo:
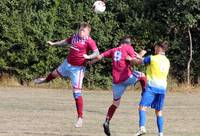
<path fill-rule="evenodd" d="M 35 79 L 34 83 L 36 83 L 36 84 L 48 83 L 49 81 L 51 81 L 59 76 L 60 76 L 59 72 L 57 71 L 57 69 L 55 69 L 46 78 L 41 77 L 41 78 Z"/>

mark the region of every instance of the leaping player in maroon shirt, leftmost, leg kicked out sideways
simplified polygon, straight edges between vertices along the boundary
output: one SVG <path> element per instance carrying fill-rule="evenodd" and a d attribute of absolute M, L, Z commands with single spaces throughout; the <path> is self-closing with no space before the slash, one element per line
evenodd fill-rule
<path fill-rule="evenodd" d="M 88 23 L 82 23 L 77 34 L 58 42 L 48 41 L 48 44 L 51 46 L 68 45 L 70 51 L 64 62 L 46 78 L 35 80 L 35 83 L 41 84 L 47 83 L 57 77 L 70 78 L 78 114 L 78 121 L 75 127 L 82 127 L 83 123 L 83 98 L 81 93 L 85 72 L 84 64 L 87 59 L 93 59 L 99 55 L 95 41 L 89 36 L 90 31 L 91 26 Z M 93 51 L 93 53 L 87 55 L 89 51 Z"/>

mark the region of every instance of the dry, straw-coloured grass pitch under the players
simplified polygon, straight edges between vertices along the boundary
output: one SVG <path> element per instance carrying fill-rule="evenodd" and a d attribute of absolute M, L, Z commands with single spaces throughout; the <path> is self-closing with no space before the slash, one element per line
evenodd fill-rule
<path fill-rule="evenodd" d="M 127 91 L 111 121 L 112 136 L 134 136 L 140 93 Z M 104 136 L 102 123 L 111 91 L 85 91 L 82 128 L 74 128 L 71 90 L 0 87 L 0 136 Z M 165 136 L 200 136 L 200 93 L 168 93 Z M 147 112 L 147 136 L 156 136 L 154 111 Z"/>

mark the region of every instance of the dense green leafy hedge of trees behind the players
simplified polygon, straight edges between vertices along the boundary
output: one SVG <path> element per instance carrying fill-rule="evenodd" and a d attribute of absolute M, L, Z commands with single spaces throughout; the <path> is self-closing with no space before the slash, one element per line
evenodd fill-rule
<path fill-rule="evenodd" d="M 45 75 L 66 57 L 68 48 L 49 47 L 48 40 L 61 40 L 89 22 L 91 36 L 100 52 L 115 47 L 132 35 L 136 51 L 153 53 L 153 44 L 167 40 L 170 78 L 177 83 L 198 84 L 200 77 L 199 0 L 107 0 L 106 12 L 95 14 L 94 0 L 1 0 L 0 72 L 23 84 Z M 87 87 L 111 85 L 111 63 L 89 66 Z M 144 71 L 143 67 L 134 67 Z"/>

